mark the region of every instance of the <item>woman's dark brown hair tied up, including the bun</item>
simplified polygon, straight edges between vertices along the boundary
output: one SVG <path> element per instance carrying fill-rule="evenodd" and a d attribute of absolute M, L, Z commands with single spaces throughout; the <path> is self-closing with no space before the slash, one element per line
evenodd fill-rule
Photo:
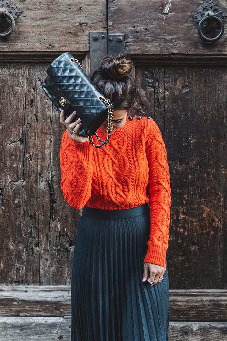
<path fill-rule="evenodd" d="M 113 109 L 131 109 L 137 103 L 137 88 L 131 70 L 132 60 L 124 53 L 106 55 L 91 80 L 109 98 Z"/>

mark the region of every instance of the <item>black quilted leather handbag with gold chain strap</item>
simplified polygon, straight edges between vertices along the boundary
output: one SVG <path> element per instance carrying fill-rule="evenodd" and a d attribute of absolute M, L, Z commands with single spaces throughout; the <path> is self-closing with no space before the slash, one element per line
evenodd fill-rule
<path fill-rule="evenodd" d="M 112 103 L 102 95 L 79 61 L 71 53 L 64 52 L 46 71 L 48 76 L 41 83 L 42 88 L 59 111 L 64 109 L 65 120 L 75 110 L 76 117 L 71 123 L 81 119 L 82 126 L 77 132 L 78 135 L 87 136 L 96 148 L 108 143 L 114 111 Z M 107 117 L 107 138 L 102 141 L 96 131 Z M 100 145 L 94 144 L 92 135 L 101 142 Z"/>

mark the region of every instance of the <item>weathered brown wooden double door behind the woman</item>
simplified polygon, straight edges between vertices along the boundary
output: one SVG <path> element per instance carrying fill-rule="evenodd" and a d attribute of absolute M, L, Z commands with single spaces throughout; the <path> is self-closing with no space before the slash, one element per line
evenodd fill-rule
<path fill-rule="evenodd" d="M 205 42 L 193 18 L 202 1 L 195 0 L 14 4 L 21 11 L 15 29 L 0 38 L 0 340 L 13 340 L 15 333 L 21 340 L 69 340 L 80 212 L 62 196 L 64 127 L 40 83 L 65 51 L 90 74 L 104 54 L 119 48 L 111 35 L 124 37 L 120 48 L 134 61 L 138 110 L 157 122 L 168 154 L 169 340 L 224 340 L 227 30 Z M 227 12 L 226 1 L 217 5 Z"/>

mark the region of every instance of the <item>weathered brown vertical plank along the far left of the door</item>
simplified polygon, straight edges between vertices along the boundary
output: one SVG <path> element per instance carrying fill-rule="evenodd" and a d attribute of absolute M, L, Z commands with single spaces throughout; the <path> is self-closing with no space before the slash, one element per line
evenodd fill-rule
<path fill-rule="evenodd" d="M 38 283 L 36 76 L 25 65 L 0 69 L 1 283 Z"/>

